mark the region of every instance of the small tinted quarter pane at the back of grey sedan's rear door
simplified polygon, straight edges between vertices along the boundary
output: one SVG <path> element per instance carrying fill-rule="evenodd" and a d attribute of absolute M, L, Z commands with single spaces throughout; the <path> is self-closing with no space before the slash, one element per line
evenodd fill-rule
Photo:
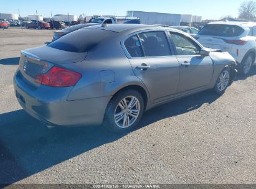
<path fill-rule="evenodd" d="M 143 57 L 143 51 L 137 35 L 133 35 L 125 40 L 125 48 L 131 57 Z"/>

